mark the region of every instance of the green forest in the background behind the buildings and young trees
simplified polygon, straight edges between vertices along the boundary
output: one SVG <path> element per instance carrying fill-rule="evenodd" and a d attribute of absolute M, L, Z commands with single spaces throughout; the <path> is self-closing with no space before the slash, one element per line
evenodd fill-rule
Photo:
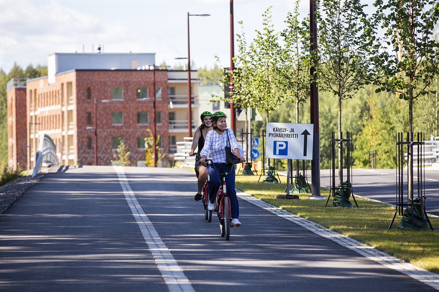
<path fill-rule="evenodd" d="M 221 69 L 200 67 L 198 77 L 216 80 Z M 36 78 L 47 75 L 47 66 L 29 64 L 26 69 L 14 64 L 6 74 L 0 69 L 0 164 L 7 165 L 7 102 L 6 84 L 11 78 Z M 437 79 L 430 85 L 436 90 Z M 395 133 L 407 132 L 408 116 L 407 102 L 396 97 L 394 93 L 374 93 L 375 88 L 363 88 L 353 99 L 342 104 L 343 132 L 352 132 L 353 136 L 353 165 L 357 168 L 370 168 L 371 141 L 374 143 L 374 168 L 395 167 Z M 327 92 L 319 92 L 320 114 L 320 167 L 329 168 L 329 134 L 337 131 L 337 97 Z M 265 113 L 261 113 L 264 121 L 253 121 L 255 133 L 265 129 Z M 270 122 L 288 123 L 295 121 L 295 104 L 284 101 L 281 106 L 270 113 Z M 305 103 L 299 109 L 299 122 L 309 123 L 309 104 Z M 425 137 L 438 136 L 437 133 L 437 97 L 434 94 L 425 95 L 414 101 L 414 132 L 425 132 Z M 285 162 L 280 162 L 283 169 Z"/>

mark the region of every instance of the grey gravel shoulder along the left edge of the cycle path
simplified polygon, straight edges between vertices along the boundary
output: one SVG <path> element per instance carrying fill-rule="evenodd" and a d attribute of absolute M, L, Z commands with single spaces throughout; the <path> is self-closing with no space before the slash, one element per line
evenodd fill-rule
<path fill-rule="evenodd" d="M 0 214 L 3 214 L 7 208 L 25 192 L 30 186 L 38 183 L 40 179 L 49 172 L 47 168 L 41 169 L 38 176 L 19 177 L 5 183 L 0 187 Z"/>

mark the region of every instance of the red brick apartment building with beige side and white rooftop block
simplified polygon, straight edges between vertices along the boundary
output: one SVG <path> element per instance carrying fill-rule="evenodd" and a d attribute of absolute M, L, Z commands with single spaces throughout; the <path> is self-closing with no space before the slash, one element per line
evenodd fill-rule
<path fill-rule="evenodd" d="M 9 166 L 32 169 L 41 134 L 54 141 L 60 164 L 94 164 L 95 99 L 97 164 L 111 165 L 122 139 L 131 163 L 142 165 L 144 138 L 153 127 L 154 63 L 153 53 L 53 53 L 48 76 L 12 79 L 7 85 Z M 193 130 L 200 123 L 196 74 L 191 72 Z M 187 135 L 187 71 L 155 70 L 155 86 L 156 129 L 165 153 L 158 166 L 166 167 L 176 142 Z"/>

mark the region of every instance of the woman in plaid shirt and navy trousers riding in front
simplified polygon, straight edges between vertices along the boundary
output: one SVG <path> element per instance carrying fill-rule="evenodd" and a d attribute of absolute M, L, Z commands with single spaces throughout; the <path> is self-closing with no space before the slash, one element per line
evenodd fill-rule
<path fill-rule="evenodd" d="M 238 159 L 239 162 L 245 162 L 244 151 L 242 151 L 240 145 L 236 141 L 236 137 L 231 129 L 227 129 L 226 114 L 223 112 L 213 113 L 211 116 L 212 129 L 209 131 L 204 147 L 202 148 L 200 155 L 200 162 L 205 163 L 205 159 L 209 156 L 215 163 L 216 169 L 223 170 L 223 172 L 230 171 L 230 164 L 226 164 L 226 147 L 230 146 L 231 151 Z M 211 165 L 208 168 L 209 174 L 209 204 L 207 208 L 209 211 L 215 210 L 215 198 L 216 192 L 220 187 L 220 178 L 215 169 Z M 225 177 L 227 186 L 227 195 L 230 199 L 230 211 L 231 211 L 231 225 L 241 225 L 239 222 L 239 203 L 235 190 L 235 169 L 232 168 L 230 175 Z"/>

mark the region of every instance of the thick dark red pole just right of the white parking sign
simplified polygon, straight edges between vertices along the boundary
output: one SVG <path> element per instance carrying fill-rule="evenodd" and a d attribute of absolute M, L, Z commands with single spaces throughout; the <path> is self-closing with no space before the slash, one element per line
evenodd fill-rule
<path fill-rule="evenodd" d="M 317 51 L 317 22 L 316 22 L 316 4 L 314 0 L 309 0 L 309 27 L 311 52 Z M 320 196 L 320 130 L 319 130 L 319 89 L 317 87 L 317 56 L 314 55 L 313 66 L 310 74 L 312 82 L 310 86 L 309 106 L 311 109 L 311 123 L 314 124 L 313 133 L 313 159 L 311 160 L 311 197 L 309 199 L 324 199 Z"/>

